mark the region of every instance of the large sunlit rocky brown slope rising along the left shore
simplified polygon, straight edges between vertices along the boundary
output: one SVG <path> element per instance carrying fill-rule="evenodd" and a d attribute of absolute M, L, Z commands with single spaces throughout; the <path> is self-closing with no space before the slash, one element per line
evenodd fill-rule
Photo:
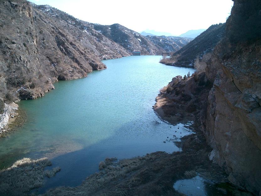
<path fill-rule="evenodd" d="M 24 0 L 0 6 L 0 97 L 6 101 L 34 99 L 57 80 L 106 68 L 101 59 L 129 55 L 88 23 L 49 6 Z"/>

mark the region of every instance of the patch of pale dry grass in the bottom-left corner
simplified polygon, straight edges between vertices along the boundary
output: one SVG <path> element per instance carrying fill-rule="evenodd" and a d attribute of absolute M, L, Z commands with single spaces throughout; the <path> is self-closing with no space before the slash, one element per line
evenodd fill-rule
<path fill-rule="evenodd" d="M 1 170 L 0 195 L 25 195 L 30 189 L 42 186 L 46 166 L 51 166 L 51 161 L 47 158 L 24 158 Z"/>

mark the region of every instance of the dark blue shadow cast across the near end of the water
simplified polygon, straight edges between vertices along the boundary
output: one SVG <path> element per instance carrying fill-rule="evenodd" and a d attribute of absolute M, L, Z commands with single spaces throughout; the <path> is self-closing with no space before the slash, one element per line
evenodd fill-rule
<path fill-rule="evenodd" d="M 111 138 L 116 138 L 122 130 L 125 130 L 126 127 L 132 126 L 133 123 L 134 122 L 129 122 L 123 125 L 115 131 L 114 135 L 107 139 L 103 139 L 96 144 L 53 158 L 51 160 L 52 167 L 60 166 L 61 171 L 56 173 L 55 177 L 51 177 L 49 179 L 46 177 L 45 185 L 39 188 L 36 193 L 44 193 L 50 188 L 55 188 L 58 186 L 75 187 L 80 185 L 86 177 L 99 171 L 99 162 L 103 161 L 107 157 L 124 159 L 135 156 L 143 156 L 147 153 L 156 151 L 166 151 L 168 153 L 172 153 L 173 151 L 180 150 L 173 143 L 173 140 L 168 140 L 166 143 L 163 143 L 163 141 L 166 141 L 167 138 L 165 136 L 162 136 L 162 138 L 157 138 L 156 140 L 153 138 L 144 139 L 143 142 L 140 140 L 136 142 L 134 142 L 134 140 L 128 142 L 127 138 L 124 140 L 120 139 L 118 142 L 115 142 L 114 140 L 113 143 L 110 143 Z M 155 126 L 161 125 L 162 124 L 158 125 L 155 123 Z M 173 126 L 171 131 L 166 132 L 170 133 L 168 136 L 171 137 L 173 136 L 175 130 L 181 131 L 181 129 L 175 129 Z M 78 142 L 81 141 L 82 140 L 79 138 Z"/>

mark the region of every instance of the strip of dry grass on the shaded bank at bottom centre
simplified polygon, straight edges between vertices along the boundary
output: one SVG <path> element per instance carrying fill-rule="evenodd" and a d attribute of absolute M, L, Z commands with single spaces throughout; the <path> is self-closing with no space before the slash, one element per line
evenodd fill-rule
<path fill-rule="evenodd" d="M 123 159 L 117 161 L 115 158 L 106 158 L 105 161 L 101 161 L 99 164 L 100 171 L 86 178 L 86 180 L 78 187 L 58 187 L 49 190 L 44 195 L 56 195 L 56 196 L 67 196 L 67 195 L 106 195 L 105 193 L 99 193 L 99 191 L 105 187 L 110 187 L 111 182 L 122 179 L 126 175 L 134 170 L 137 170 L 146 161 L 153 161 L 156 159 L 155 155 L 146 155 L 144 157 L 136 157 L 132 159 Z M 133 184 L 137 183 L 138 179 L 133 180 Z M 106 189 L 108 190 L 108 189 Z M 108 195 L 125 195 L 124 192 L 112 191 Z M 117 193 L 116 193 L 116 192 Z"/>

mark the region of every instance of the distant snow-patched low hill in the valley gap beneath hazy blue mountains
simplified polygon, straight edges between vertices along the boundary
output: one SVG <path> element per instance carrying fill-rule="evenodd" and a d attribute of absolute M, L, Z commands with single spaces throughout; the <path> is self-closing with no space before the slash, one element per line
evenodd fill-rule
<path fill-rule="evenodd" d="M 164 52 L 177 52 L 183 46 L 187 45 L 192 38 L 186 37 L 174 37 L 174 36 L 151 36 L 147 35 L 146 38 L 150 40 L 154 45 L 163 48 Z M 163 51 L 162 51 L 163 52 Z"/>

